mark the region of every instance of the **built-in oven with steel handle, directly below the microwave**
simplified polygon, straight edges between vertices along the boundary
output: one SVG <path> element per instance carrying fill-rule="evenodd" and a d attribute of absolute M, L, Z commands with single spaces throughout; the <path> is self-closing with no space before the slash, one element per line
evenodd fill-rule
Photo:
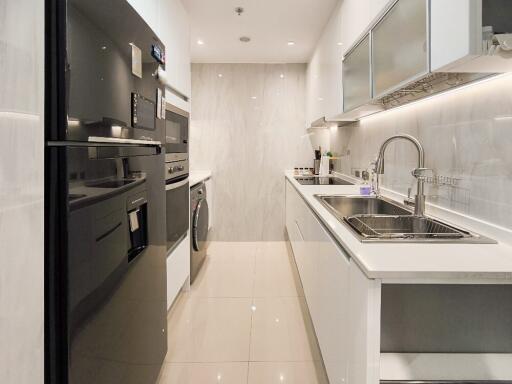
<path fill-rule="evenodd" d="M 167 255 L 183 240 L 189 229 L 188 154 L 174 153 L 165 163 Z"/>

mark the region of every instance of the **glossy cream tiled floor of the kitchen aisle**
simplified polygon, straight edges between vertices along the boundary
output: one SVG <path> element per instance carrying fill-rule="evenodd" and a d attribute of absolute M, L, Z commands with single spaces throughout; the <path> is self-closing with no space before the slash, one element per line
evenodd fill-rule
<path fill-rule="evenodd" d="M 159 384 L 324 384 L 284 242 L 212 243 L 169 316 Z"/>

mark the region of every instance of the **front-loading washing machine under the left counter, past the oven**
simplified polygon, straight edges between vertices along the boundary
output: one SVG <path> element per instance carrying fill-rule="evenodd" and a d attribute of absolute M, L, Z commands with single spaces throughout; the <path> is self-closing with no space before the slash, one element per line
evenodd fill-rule
<path fill-rule="evenodd" d="M 193 282 L 206 258 L 208 245 L 208 201 L 206 186 L 199 183 L 190 190 L 190 281 Z"/>

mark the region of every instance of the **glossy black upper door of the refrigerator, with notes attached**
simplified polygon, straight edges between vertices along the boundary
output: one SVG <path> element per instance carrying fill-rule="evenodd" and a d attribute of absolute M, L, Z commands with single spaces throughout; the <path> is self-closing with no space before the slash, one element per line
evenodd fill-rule
<path fill-rule="evenodd" d="M 67 4 L 65 140 L 158 140 L 164 45 L 125 0 Z"/>

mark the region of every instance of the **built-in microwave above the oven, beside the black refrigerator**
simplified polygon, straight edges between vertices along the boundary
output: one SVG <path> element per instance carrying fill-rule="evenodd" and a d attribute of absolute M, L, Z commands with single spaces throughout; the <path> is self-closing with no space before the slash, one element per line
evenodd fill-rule
<path fill-rule="evenodd" d="M 165 161 L 188 153 L 189 113 L 167 104 L 165 112 Z"/>

